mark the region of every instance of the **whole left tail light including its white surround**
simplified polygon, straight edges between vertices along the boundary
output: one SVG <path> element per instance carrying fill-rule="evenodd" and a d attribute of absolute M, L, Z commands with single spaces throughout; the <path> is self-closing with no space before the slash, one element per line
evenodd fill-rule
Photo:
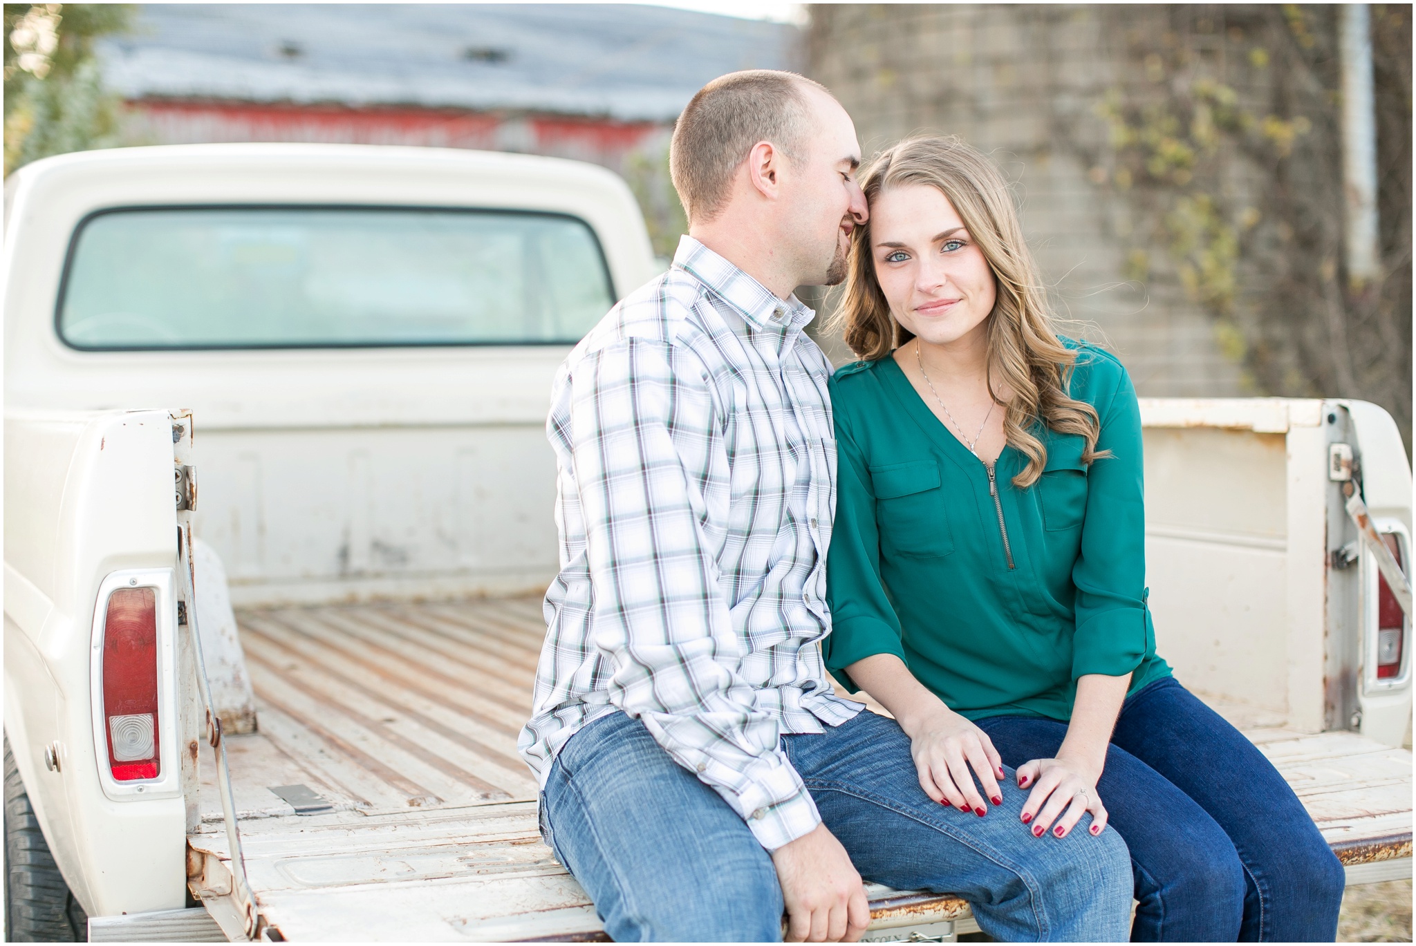
<path fill-rule="evenodd" d="M 115 800 L 181 793 L 173 569 L 109 574 L 93 608 L 93 755 Z"/>

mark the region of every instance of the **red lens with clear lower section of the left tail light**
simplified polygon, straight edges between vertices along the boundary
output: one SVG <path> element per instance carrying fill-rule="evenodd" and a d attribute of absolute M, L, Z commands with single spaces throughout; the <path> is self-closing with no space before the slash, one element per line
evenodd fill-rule
<path fill-rule="evenodd" d="M 103 722 L 108 759 L 119 782 L 156 779 L 157 593 L 120 588 L 103 619 Z"/>

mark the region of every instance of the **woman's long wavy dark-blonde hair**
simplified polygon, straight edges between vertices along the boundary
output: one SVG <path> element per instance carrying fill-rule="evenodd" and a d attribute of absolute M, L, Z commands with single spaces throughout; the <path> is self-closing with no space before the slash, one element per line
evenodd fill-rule
<path fill-rule="evenodd" d="M 988 316 L 988 391 L 994 391 L 997 372 L 1012 392 L 1011 401 L 998 402 L 1005 408 L 1004 435 L 1028 457 L 1028 465 L 1012 477 L 1014 486 L 1032 486 L 1042 476 L 1046 448 L 1037 436 L 1039 421 L 1058 433 L 1086 438 L 1083 463 L 1106 456 L 1096 450 L 1100 432 L 1096 409 L 1068 394 L 1076 353 L 1054 331 L 1046 289 L 1022 239 L 1003 174 L 954 136 L 905 139 L 872 159 L 861 173 L 861 190 L 872 204 L 884 190 L 908 184 L 935 187 L 949 198 L 993 270 L 997 302 Z M 845 344 L 865 361 L 884 358 L 915 337 L 891 314 L 875 278 L 869 222 L 851 234 L 845 290 L 831 324 L 844 329 Z"/>

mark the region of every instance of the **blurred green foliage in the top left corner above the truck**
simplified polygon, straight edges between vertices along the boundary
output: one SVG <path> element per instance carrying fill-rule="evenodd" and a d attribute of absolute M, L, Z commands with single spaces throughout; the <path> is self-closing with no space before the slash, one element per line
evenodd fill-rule
<path fill-rule="evenodd" d="M 129 4 L 4 4 L 4 173 L 119 143 L 122 102 L 103 89 L 93 40 L 126 30 Z"/>

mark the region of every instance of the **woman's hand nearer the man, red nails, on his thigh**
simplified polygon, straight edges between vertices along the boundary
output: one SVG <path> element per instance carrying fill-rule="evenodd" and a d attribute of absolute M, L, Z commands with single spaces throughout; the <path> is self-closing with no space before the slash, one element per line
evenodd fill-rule
<path fill-rule="evenodd" d="M 901 719 L 901 726 L 909 735 L 909 752 L 915 758 L 919 785 L 935 802 L 983 817 L 988 807 L 974 786 L 973 776 L 978 776 L 978 785 L 988 800 L 1003 804 L 1003 790 L 998 787 L 1003 759 L 987 732 L 937 698 L 935 702 L 926 712 Z M 969 772 L 970 768 L 973 773 Z"/>

